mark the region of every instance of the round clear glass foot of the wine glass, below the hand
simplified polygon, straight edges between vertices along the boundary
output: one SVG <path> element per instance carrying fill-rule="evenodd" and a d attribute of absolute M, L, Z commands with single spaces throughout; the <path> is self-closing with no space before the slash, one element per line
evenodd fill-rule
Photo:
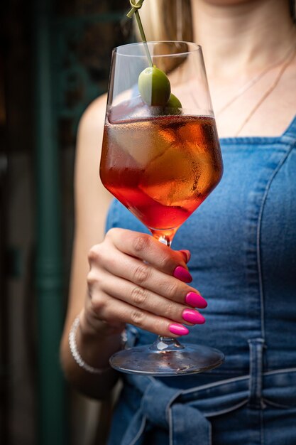
<path fill-rule="evenodd" d="M 204 345 L 181 345 L 174 338 L 158 338 L 152 346 L 136 346 L 111 356 L 112 368 L 128 374 L 172 376 L 212 370 L 224 362 L 221 351 Z"/>

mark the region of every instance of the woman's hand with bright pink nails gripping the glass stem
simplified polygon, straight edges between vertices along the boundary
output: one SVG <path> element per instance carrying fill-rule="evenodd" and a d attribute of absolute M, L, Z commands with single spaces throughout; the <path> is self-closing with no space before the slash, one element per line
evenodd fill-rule
<path fill-rule="evenodd" d="M 187 271 L 188 251 L 174 251 L 152 236 L 114 228 L 89 251 L 84 310 L 97 333 L 121 332 L 125 323 L 160 336 L 186 335 L 182 324 L 204 323 L 193 307 L 207 302 Z"/>

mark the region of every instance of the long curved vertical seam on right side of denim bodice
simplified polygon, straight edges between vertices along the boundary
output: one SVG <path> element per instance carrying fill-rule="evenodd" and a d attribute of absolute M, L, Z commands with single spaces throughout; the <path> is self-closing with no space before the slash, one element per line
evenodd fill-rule
<path fill-rule="evenodd" d="M 263 194 L 263 200 L 261 203 L 261 208 L 258 215 L 258 225 L 257 225 L 257 265 L 258 265 L 258 278 L 259 278 L 259 292 L 260 292 L 260 299 L 261 299 L 261 335 L 263 338 L 265 338 L 265 313 L 264 313 L 264 289 L 263 289 L 263 277 L 262 277 L 262 264 L 261 264 L 261 249 L 260 249 L 260 242 L 261 242 L 261 225 L 262 225 L 262 219 L 263 219 L 263 210 L 265 207 L 266 198 L 271 186 L 271 183 L 273 182 L 273 179 L 275 178 L 278 171 L 280 171 L 280 168 L 285 163 L 287 157 L 290 155 L 290 152 L 292 150 L 292 146 L 290 146 L 290 149 L 287 150 L 285 153 L 285 156 L 283 156 L 283 159 L 278 163 L 277 168 L 273 171 L 273 174 L 270 177 L 270 180 L 266 184 L 265 191 Z"/>

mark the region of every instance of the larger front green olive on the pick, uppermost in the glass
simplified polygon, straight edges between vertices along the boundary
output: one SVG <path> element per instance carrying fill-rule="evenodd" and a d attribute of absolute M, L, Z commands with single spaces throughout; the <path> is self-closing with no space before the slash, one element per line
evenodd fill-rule
<path fill-rule="evenodd" d="M 170 98 L 170 80 L 162 70 L 149 67 L 138 77 L 138 90 L 146 104 L 165 107 Z"/>

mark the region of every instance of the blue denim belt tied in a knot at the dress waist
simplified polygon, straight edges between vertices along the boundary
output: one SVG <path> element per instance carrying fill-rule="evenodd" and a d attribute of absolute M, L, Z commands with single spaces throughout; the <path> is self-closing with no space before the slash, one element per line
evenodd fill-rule
<path fill-rule="evenodd" d="M 170 445 L 212 445 L 212 417 L 234 412 L 246 404 L 251 408 L 264 408 L 265 403 L 296 407 L 296 368 L 262 373 L 263 338 L 252 339 L 249 344 L 250 375 L 187 390 L 168 387 L 153 377 L 126 375 L 131 400 L 136 400 L 138 408 L 120 444 L 146 444 L 146 433 L 155 427 L 168 431 Z"/>

